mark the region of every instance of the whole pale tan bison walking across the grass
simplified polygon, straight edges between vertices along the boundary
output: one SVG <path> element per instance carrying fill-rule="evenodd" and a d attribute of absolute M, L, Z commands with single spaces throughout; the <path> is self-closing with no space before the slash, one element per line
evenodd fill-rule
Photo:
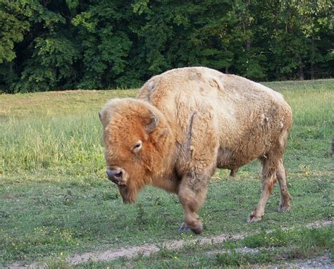
<path fill-rule="evenodd" d="M 283 152 L 292 111 L 283 96 L 237 75 L 204 67 L 178 68 L 148 80 L 137 99 L 111 99 L 99 113 L 106 174 L 124 203 L 147 184 L 178 195 L 180 232 L 199 234 L 197 211 L 216 168 L 259 158 L 262 192 L 247 222 L 261 220 L 276 180 L 280 211 L 290 208 Z"/>

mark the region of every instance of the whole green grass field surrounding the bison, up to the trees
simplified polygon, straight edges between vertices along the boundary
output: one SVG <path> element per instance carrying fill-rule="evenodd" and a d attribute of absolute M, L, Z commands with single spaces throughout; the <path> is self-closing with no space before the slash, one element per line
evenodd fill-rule
<path fill-rule="evenodd" d="M 206 203 L 199 211 L 204 233 L 235 234 L 273 230 L 273 242 L 262 232 L 241 241 L 214 246 L 161 249 L 150 258 L 88 263 L 109 267 L 212 267 L 269 263 L 281 258 L 306 258 L 330 250 L 333 226 L 283 232 L 316 220 L 332 220 L 334 166 L 334 80 L 270 82 L 292 106 L 294 125 L 285 152 L 292 211 L 278 213 L 275 187 L 260 223 L 246 224 L 259 200 L 260 165 L 240 169 L 237 180 L 218 170 Z M 13 262 L 48 261 L 67 267 L 64 257 L 120 246 L 160 244 L 190 239 L 178 234 L 183 211 L 177 197 L 147 187 L 136 204 L 124 205 L 105 177 L 101 124 L 97 113 L 114 97 L 135 96 L 136 90 L 47 92 L 0 95 L 0 268 Z M 207 255 L 208 251 L 243 246 L 264 248 L 257 254 Z M 268 248 L 293 247 L 289 256 L 273 256 Z M 291 252 L 291 251 L 290 251 Z M 196 255 L 195 255 L 196 254 Z M 63 261 L 63 262 L 62 262 Z"/>

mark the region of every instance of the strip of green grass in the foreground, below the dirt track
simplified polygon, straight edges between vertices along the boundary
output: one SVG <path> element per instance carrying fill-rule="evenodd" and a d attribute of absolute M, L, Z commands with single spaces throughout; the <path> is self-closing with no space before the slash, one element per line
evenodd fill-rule
<path fill-rule="evenodd" d="M 240 268 L 240 266 L 278 264 L 286 260 L 308 259 L 332 250 L 332 227 L 308 230 L 276 230 L 250 235 L 240 241 L 221 244 L 186 244 L 183 249 L 161 248 L 149 257 L 119 258 L 109 262 L 89 262 L 75 268 Z M 255 250 L 242 252 L 241 250 Z M 252 248 L 252 249 L 251 249 Z M 48 268 L 70 268 L 66 257 L 50 258 Z"/>

